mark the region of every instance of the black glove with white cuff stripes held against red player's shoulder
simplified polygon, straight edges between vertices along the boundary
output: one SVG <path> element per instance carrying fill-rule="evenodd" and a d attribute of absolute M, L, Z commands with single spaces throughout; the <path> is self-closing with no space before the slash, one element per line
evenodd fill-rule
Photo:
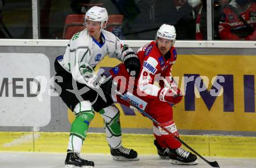
<path fill-rule="evenodd" d="M 134 52 L 129 52 L 123 58 L 123 63 L 125 64 L 127 72 L 131 76 L 137 77 L 140 74 L 140 60 Z M 135 74 L 134 74 L 134 72 Z"/>

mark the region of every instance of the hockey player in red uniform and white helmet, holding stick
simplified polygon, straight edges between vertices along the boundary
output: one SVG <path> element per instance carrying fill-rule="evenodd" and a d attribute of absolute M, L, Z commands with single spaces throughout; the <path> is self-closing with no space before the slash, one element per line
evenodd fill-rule
<path fill-rule="evenodd" d="M 114 81 L 119 84 L 117 89 L 123 92 L 124 96 L 169 129 L 174 136 L 179 137 L 170 105 L 182 100 L 182 94 L 170 74 L 177 58 L 176 49 L 173 46 L 175 39 L 175 27 L 161 25 L 157 31 L 156 40 L 147 43 L 137 52 L 141 63 L 138 78 L 130 76 L 123 63 L 112 68 L 110 72 Z M 154 82 L 158 82 L 159 87 L 154 85 Z M 118 96 L 116 98 L 120 103 L 129 106 Z M 196 165 L 198 163 L 197 156 L 184 150 L 181 147 L 182 144 L 161 127 L 154 124 L 153 132 L 156 139 L 154 144 L 159 156 L 168 157 L 175 164 Z"/>

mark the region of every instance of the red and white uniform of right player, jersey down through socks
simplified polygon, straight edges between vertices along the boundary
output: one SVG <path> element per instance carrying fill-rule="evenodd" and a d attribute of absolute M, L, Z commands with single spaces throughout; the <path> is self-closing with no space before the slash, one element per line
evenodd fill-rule
<path fill-rule="evenodd" d="M 177 58 L 175 48 L 172 47 L 165 56 L 162 56 L 157 44 L 155 41 L 152 41 L 140 48 L 137 56 L 141 64 L 140 74 L 137 79 L 134 80 L 134 77 L 128 74 L 123 63 L 111 69 L 110 72 L 114 81 L 119 83 L 117 90 L 122 90 L 119 92 L 129 99 L 129 101 L 133 102 L 138 108 L 143 109 L 163 126 L 172 130 L 175 136 L 178 136 L 179 134 L 173 122 L 172 106 L 169 103 L 178 103 L 181 100 L 181 96 L 179 96 L 179 101 L 169 101 L 170 99 L 165 101 L 165 98 L 161 98 L 161 93 L 163 93 L 162 91 L 165 92 L 163 89 L 168 89 L 168 87 L 164 87 L 163 82 L 160 81 L 162 78 L 165 78 L 169 82 L 172 79 L 170 71 Z M 155 81 L 160 81 L 159 85 L 161 87 L 154 85 Z M 123 87 L 126 87 L 125 90 L 123 90 Z M 165 96 L 163 95 L 162 97 Z M 127 101 L 122 100 L 119 96 L 116 98 L 119 103 L 131 107 Z M 159 129 L 154 124 L 153 132 L 155 138 L 161 143 L 162 147 L 176 149 L 182 145 L 173 136 L 160 130 L 162 129 Z"/>

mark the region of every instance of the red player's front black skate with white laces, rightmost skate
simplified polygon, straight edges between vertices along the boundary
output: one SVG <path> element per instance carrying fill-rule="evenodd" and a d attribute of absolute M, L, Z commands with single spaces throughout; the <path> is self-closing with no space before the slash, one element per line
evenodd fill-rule
<path fill-rule="evenodd" d="M 184 150 L 182 147 L 177 149 L 169 148 L 169 157 L 172 159 L 173 164 L 177 165 L 197 165 L 197 156 Z"/>

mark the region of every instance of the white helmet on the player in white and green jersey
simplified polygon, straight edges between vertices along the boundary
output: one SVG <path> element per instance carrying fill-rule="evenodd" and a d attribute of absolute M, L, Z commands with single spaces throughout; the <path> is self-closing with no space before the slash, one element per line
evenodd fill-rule
<path fill-rule="evenodd" d="M 106 12 L 106 8 L 102 8 L 99 6 L 91 7 L 84 16 L 84 21 L 91 20 L 91 21 L 99 21 L 101 22 L 101 28 L 103 24 L 108 21 L 108 12 Z"/>

